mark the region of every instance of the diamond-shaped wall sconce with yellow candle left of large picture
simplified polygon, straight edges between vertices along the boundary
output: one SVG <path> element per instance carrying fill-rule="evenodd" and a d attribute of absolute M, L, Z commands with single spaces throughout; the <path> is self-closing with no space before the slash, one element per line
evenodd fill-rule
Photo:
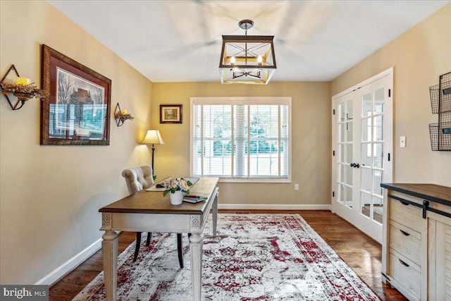
<path fill-rule="evenodd" d="M 10 73 L 11 70 L 14 70 L 14 72 L 16 72 L 17 75 L 16 82 L 11 82 L 11 80 L 7 82 L 5 80 L 6 76 L 8 76 L 8 73 Z M 6 100 L 8 100 L 8 103 L 11 106 L 11 109 L 13 109 L 13 111 L 22 108 L 25 102 L 27 102 L 27 100 L 29 99 L 32 99 L 33 97 L 44 99 L 47 96 L 49 96 L 49 92 L 41 90 L 38 87 L 36 87 L 35 83 L 31 82 L 30 79 L 21 78 L 18 73 L 18 70 L 14 65 L 11 65 L 11 67 L 8 69 L 8 72 L 6 72 L 4 77 L 1 78 L 0 87 L 1 92 L 3 92 L 3 94 L 5 95 Z M 17 97 L 16 104 L 11 103 L 11 100 L 8 97 L 8 94 L 10 93 L 12 93 L 15 97 Z"/>

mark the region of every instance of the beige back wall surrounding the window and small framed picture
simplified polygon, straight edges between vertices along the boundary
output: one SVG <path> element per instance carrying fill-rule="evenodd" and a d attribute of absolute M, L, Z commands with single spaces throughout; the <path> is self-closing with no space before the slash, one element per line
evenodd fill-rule
<path fill-rule="evenodd" d="M 265 86 L 154 82 L 152 125 L 165 142 L 156 146 L 155 171 L 159 178 L 190 173 L 190 97 L 288 96 L 292 97 L 292 183 L 221 183 L 220 204 L 330 204 L 329 93 L 328 82 Z M 183 124 L 159 124 L 160 104 L 183 104 Z M 294 183 L 299 183 L 299 191 Z"/>

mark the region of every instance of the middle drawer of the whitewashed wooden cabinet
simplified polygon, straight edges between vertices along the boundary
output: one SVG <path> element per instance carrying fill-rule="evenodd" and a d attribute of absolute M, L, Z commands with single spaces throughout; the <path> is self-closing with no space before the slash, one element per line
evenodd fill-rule
<path fill-rule="evenodd" d="M 390 221 L 390 248 L 421 266 L 421 234 Z"/>

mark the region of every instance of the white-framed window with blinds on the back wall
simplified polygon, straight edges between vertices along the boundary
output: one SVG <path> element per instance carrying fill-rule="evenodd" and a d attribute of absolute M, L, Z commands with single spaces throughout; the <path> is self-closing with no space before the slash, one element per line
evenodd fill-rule
<path fill-rule="evenodd" d="M 291 97 L 192 97 L 192 176 L 289 182 Z"/>

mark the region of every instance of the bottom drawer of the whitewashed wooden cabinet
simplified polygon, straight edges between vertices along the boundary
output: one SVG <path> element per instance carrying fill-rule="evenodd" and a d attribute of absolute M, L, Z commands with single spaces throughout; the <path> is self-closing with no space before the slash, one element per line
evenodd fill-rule
<path fill-rule="evenodd" d="M 420 267 L 393 250 L 390 250 L 390 276 L 409 293 L 418 299 L 421 298 Z"/>

